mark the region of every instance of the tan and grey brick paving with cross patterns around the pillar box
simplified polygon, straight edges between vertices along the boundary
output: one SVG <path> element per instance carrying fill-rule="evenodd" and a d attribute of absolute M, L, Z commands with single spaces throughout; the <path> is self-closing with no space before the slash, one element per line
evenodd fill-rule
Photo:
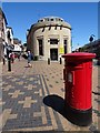
<path fill-rule="evenodd" d="M 16 60 L 11 72 L 8 64 L 2 66 L 0 85 L 2 85 L 2 131 L 93 131 L 100 119 L 100 99 L 92 94 L 93 122 L 89 126 L 77 126 L 70 123 L 63 114 L 64 88 L 63 64 L 44 61 L 32 62 L 27 66 L 27 60 Z M 100 76 L 100 75 L 99 75 Z M 98 68 L 93 66 L 93 92 L 100 91 L 98 85 Z M 2 83 L 2 84 L 1 84 Z"/>

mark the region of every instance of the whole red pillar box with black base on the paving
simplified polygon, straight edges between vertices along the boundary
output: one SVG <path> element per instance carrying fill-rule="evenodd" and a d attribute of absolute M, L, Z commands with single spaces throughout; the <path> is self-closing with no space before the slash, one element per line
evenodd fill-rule
<path fill-rule="evenodd" d="M 92 122 L 91 80 L 94 53 L 77 52 L 64 58 L 66 112 L 69 121 L 86 126 Z"/>

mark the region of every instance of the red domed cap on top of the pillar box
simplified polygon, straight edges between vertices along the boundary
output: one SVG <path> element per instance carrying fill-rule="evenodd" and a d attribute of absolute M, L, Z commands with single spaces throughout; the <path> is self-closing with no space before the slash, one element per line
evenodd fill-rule
<path fill-rule="evenodd" d="M 74 52 L 74 53 L 68 53 L 63 54 L 62 58 L 66 58 L 70 61 L 76 60 L 89 60 L 96 58 L 96 53 L 88 53 L 88 52 Z"/>

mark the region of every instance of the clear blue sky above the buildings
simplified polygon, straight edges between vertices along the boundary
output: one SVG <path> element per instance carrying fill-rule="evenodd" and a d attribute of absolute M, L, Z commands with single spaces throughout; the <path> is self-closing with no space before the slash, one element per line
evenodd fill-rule
<path fill-rule="evenodd" d="M 60 17 L 70 23 L 72 50 L 98 39 L 98 2 L 2 2 L 8 27 L 13 37 L 27 42 L 27 30 L 40 18 Z"/>

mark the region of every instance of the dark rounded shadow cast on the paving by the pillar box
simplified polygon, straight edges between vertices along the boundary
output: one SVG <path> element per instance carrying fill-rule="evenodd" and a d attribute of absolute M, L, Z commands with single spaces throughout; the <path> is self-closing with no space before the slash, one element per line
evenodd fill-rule
<path fill-rule="evenodd" d="M 66 117 L 64 100 L 61 96 L 56 94 L 48 95 L 43 99 L 43 103 Z"/>

